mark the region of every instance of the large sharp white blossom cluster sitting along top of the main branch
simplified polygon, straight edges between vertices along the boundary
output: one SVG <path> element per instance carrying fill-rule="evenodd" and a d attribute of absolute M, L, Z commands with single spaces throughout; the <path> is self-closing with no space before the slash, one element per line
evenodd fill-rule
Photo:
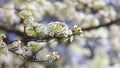
<path fill-rule="evenodd" d="M 32 14 L 28 10 L 23 10 L 19 13 L 19 16 L 24 19 L 25 33 L 28 36 L 44 36 L 50 37 L 65 37 L 69 38 L 72 35 L 81 34 L 82 30 L 77 25 L 74 26 L 73 30 L 69 29 L 65 22 L 50 22 L 48 24 L 36 23 L 33 21 Z"/>

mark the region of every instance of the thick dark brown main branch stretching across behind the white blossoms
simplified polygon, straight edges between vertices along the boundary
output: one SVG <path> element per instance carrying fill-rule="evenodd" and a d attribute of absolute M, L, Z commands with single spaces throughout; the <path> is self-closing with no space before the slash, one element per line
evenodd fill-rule
<path fill-rule="evenodd" d="M 114 21 L 111 21 L 109 23 L 106 23 L 106 24 L 101 24 L 101 25 L 98 25 L 98 26 L 94 26 L 94 27 L 87 27 L 87 28 L 82 28 L 82 31 L 90 31 L 90 30 L 94 30 L 94 29 L 98 29 L 98 28 L 101 28 L 101 27 L 109 27 L 113 24 L 118 24 L 120 21 L 120 19 L 117 19 L 117 20 L 114 20 Z M 30 36 L 27 36 L 25 33 L 19 31 L 19 30 L 16 30 L 16 29 L 13 29 L 13 28 L 10 28 L 10 27 L 7 27 L 7 26 L 4 26 L 4 25 L 0 25 L 0 30 L 4 30 L 6 31 L 7 33 L 15 33 L 17 34 L 18 36 L 20 37 L 25 37 L 25 39 L 23 40 L 25 43 L 30 41 L 30 40 L 46 40 L 46 39 L 51 39 L 51 38 L 57 38 L 57 37 L 50 37 L 50 36 L 45 36 L 43 38 L 38 38 L 38 37 L 30 37 Z"/>

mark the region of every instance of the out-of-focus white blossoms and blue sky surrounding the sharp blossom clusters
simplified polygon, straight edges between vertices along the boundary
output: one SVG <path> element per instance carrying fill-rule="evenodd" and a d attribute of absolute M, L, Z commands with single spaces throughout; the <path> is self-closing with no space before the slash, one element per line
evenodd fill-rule
<path fill-rule="evenodd" d="M 120 68 L 120 0 L 0 0 L 0 8 L 5 10 L 0 10 L 0 33 L 8 41 L 22 38 L 22 9 L 30 10 L 35 22 L 62 21 L 83 31 L 72 42 L 48 42 L 40 55 L 59 52 L 55 63 L 28 62 L 25 68 Z M 0 57 L 0 68 L 19 68 L 23 61 L 10 53 Z"/>

